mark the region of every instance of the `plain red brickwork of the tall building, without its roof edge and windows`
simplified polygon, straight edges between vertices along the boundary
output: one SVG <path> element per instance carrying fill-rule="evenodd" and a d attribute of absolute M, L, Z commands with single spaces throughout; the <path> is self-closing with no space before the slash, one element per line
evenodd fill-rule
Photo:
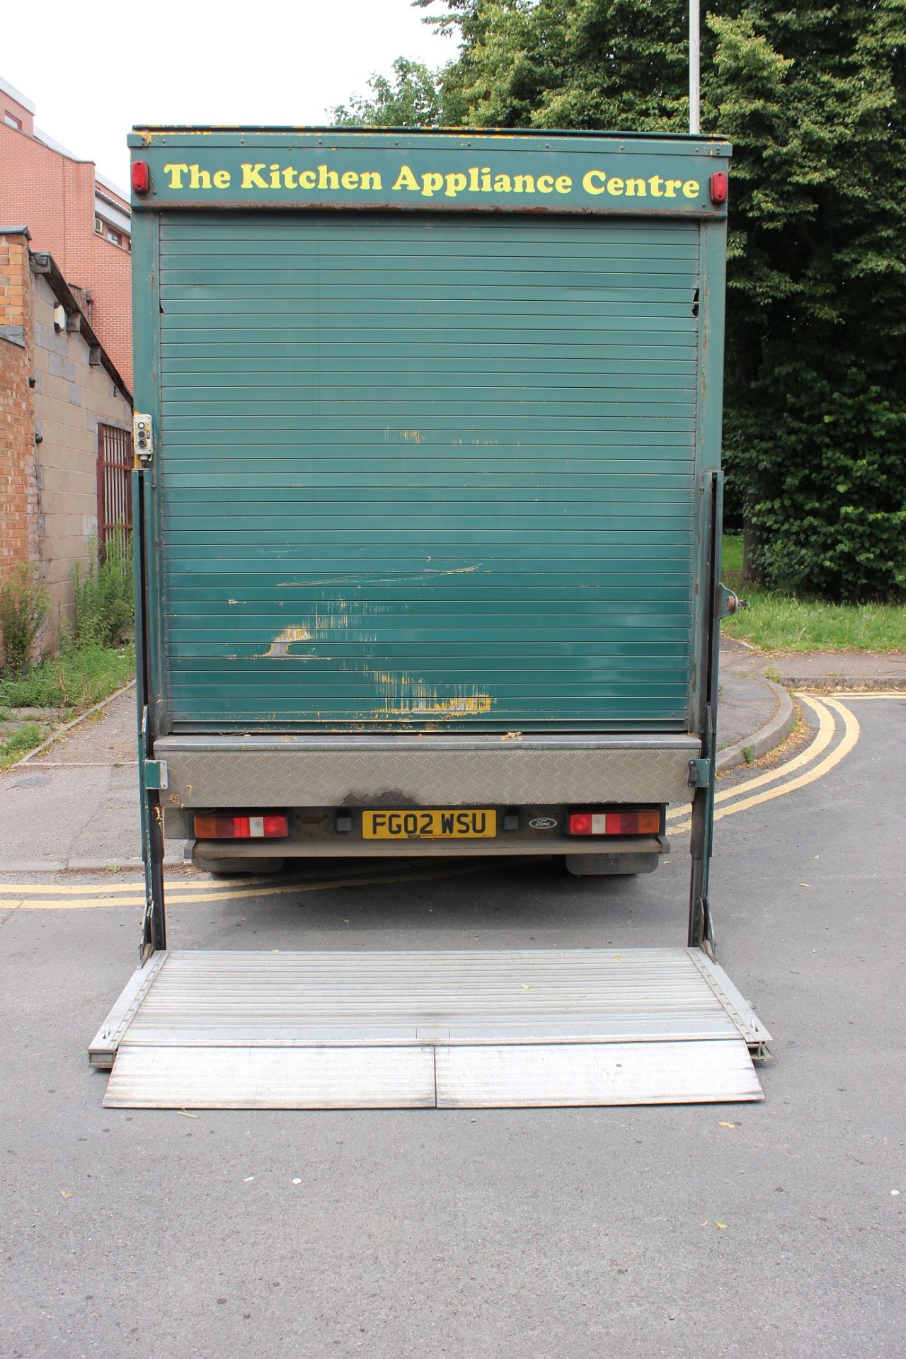
<path fill-rule="evenodd" d="M 95 234 L 94 207 L 91 160 L 0 124 L 0 224 L 27 226 L 31 249 L 49 250 L 67 283 L 91 292 L 91 326 L 132 389 L 132 257 Z"/>

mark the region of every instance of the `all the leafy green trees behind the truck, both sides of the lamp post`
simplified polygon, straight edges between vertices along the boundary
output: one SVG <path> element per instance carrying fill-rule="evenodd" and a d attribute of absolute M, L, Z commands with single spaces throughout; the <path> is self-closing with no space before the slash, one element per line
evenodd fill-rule
<path fill-rule="evenodd" d="M 436 117 L 682 132 L 686 20 L 686 0 L 446 0 Z M 757 567 L 903 595 L 906 0 L 713 0 L 702 125 L 735 144 L 724 444 Z"/>

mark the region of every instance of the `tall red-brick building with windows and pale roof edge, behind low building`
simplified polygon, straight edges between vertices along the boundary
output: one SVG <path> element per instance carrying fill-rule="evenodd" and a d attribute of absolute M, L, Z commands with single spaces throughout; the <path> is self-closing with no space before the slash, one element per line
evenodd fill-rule
<path fill-rule="evenodd" d="M 0 222 L 24 222 L 79 291 L 91 328 L 132 386 L 128 198 L 34 126 L 34 105 L 0 79 Z"/>

